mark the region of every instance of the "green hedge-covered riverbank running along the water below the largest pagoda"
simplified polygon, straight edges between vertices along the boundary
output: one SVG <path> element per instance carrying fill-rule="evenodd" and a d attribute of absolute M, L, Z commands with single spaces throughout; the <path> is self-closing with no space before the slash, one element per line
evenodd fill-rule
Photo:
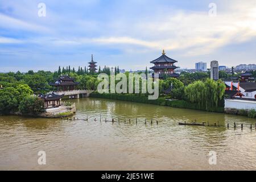
<path fill-rule="evenodd" d="M 135 95 L 135 94 L 100 94 L 97 92 L 93 92 L 90 94 L 90 97 L 94 98 L 108 98 L 112 100 L 119 101 L 130 101 L 130 102 L 139 102 L 143 104 L 153 104 L 160 106 L 170 106 L 181 109 L 195 109 L 195 110 L 203 110 L 207 111 L 205 107 L 200 107 L 197 104 L 193 104 L 184 100 L 166 100 L 165 98 L 158 98 L 157 100 L 148 100 L 148 97 L 145 95 Z M 213 110 L 216 113 L 224 113 L 224 107 L 216 107 Z"/>

